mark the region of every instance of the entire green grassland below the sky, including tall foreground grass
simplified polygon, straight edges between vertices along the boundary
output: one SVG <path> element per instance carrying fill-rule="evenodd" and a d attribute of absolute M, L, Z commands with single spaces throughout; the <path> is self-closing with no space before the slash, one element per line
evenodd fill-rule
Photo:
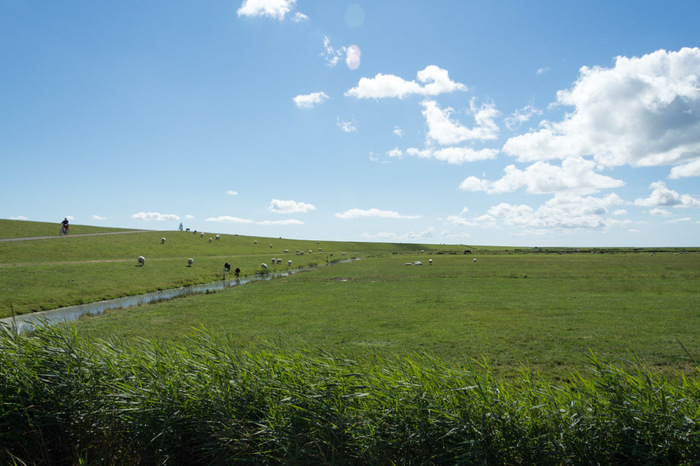
<path fill-rule="evenodd" d="M 0 220 L 0 239 L 49 227 Z M 81 228 L 0 241 L 3 315 L 220 280 L 225 261 L 331 264 L 5 329 L 2 463 L 700 462 L 698 249 Z"/>

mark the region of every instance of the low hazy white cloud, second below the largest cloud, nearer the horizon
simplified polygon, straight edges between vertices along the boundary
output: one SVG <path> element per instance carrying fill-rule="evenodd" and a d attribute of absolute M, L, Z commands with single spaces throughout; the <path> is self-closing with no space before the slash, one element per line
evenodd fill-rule
<path fill-rule="evenodd" d="M 619 221 L 607 218 L 608 210 L 623 201 L 617 194 L 602 198 L 558 194 L 533 209 L 529 205 L 501 203 L 491 207 L 488 215 L 510 227 L 531 233 L 570 229 L 602 229 Z"/>

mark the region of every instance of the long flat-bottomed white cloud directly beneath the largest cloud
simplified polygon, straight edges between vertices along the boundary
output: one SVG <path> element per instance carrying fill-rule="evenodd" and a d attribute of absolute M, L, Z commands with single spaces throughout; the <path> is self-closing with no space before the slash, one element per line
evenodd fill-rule
<path fill-rule="evenodd" d="M 513 192 L 521 187 L 532 194 L 571 192 L 593 194 L 601 189 L 618 188 L 621 180 L 600 175 L 594 171 L 595 162 L 581 157 L 562 161 L 561 167 L 536 162 L 524 171 L 508 165 L 500 180 L 487 181 L 470 176 L 459 186 L 462 191 L 485 191 L 489 194 Z"/>

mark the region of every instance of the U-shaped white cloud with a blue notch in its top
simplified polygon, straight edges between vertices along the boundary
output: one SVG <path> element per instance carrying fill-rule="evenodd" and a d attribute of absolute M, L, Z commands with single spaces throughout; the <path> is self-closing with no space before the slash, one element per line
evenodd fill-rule
<path fill-rule="evenodd" d="M 434 100 L 421 102 L 423 116 L 428 124 L 428 138 L 441 145 L 458 144 L 472 139 L 495 139 L 498 136 L 498 125 L 494 118 L 498 110 L 492 104 L 484 104 L 477 108 L 474 99 L 471 100 L 470 112 L 474 115 L 476 126 L 467 128 L 450 116 L 454 110 L 450 107 L 442 110 Z"/>

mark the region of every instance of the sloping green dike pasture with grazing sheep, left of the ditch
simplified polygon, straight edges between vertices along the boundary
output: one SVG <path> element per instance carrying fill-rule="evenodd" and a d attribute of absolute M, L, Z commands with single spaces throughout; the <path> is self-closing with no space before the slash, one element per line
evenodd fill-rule
<path fill-rule="evenodd" d="M 288 260 L 292 260 L 292 268 L 298 268 L 430 248 L 238 235 L 220 235 L 221 239 L 216 240 L 216 234 L 211 232 L 201 236 L 202 232 L 130 232 L 81 225 L 72 226 L 71 235 L 59 237 L 58 224 L 0 220 L 0 240 L 39 238 L 51 231 L 54 235 L 48 239 L 0 241 L 0 318 L 13 312 L 25 314 L 213 282 L 223 278 L 226 262 L 231 264 L 232 272 L 238 267 L 245 277 L 261 272 L 262 263 L 274 272 L 287 270 Z M 166 239 L 164 244 L 161 238 Z M 146 258 L 145 267 L 138 266 L 139 256 Z M 187 266 L 188 258 L 194 259 L 192 267 Z M 281 258 L 282 263 L 273 266 L 272 258 Z"/>

